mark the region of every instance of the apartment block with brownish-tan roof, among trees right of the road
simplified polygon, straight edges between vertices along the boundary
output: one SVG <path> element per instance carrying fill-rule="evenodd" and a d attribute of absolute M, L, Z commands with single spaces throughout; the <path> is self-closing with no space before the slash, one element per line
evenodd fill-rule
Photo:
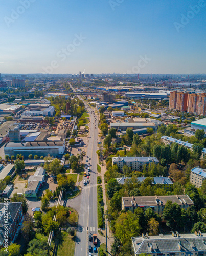
<path fill-rule="evenodd" d="M 144 211 L 148 208 L 152 208 L 154 212 L 159 215 L 163 214 L 163 210 L 168 200 L 172 203 L 177 203 L 181 208 L 185 210 L 194 205 L 193 201 L 188 195 L 175 195 L 175 196 L 145 196 L 145 197 L 122 197 L 122 210 L 134 210 L 138 207 Z"/>

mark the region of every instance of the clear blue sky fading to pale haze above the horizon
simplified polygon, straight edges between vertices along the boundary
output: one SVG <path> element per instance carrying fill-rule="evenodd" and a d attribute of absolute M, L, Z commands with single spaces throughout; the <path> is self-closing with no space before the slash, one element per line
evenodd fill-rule
<path fill-rule="evenodd" d="M 206 73 L 206 0 L 0 1 L 0 73 Z"/>

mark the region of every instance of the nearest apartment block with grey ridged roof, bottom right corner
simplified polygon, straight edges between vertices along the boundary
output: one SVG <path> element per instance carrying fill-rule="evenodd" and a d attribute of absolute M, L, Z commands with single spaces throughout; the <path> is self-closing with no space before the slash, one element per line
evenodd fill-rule
<path fill-rule="evenodd" d="M 133 237 L 133 255 L 151 256 L 204 256 L 206 234 L 168 234 L 159 236 Z"/>

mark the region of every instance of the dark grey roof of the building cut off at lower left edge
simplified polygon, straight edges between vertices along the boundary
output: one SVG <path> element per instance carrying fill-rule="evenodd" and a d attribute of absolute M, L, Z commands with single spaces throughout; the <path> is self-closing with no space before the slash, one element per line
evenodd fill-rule
<path fill-rule="evenodd" d="M 16 202 L 16 203 L 9 203 L 8 204 L 8 210 L 7 212 L 9 212 L 8 214 L 8 229 L 11 227 L 11 224 L 13 222 L 13 220 L 15 219 L 15 216 L 19 210 L 19 208 L 21 207 L 22 203 L 21 202 Z M 5 234 L 5 228 L 4 228 L 4 203 L 0 203 L 0 245 L 3 244 L 4 242 L 4 234 Z M 19 220 L 20 221 L 20 220 Z"/>

